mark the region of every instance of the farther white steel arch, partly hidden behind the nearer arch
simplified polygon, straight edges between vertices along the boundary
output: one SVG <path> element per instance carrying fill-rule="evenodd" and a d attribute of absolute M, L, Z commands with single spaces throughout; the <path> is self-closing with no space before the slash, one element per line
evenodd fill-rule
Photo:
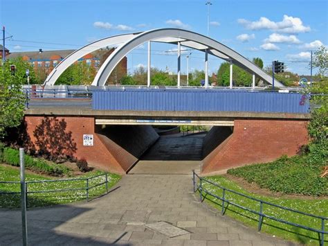
<path fill-rule="evenodd" d="M 79 60 L 80 58 L 84 57 L 93 51 L 97 51 L 98 49 L 102 49 L 106 46 L 112 46 L 114 44 L 120 44 L 123 42 L 127 42 L 129 39 L 132 39 L 139 33 L 129 33 L 123 35 L 116 35 L 112 37 L 106 37 L 104 39 L 100 39 L 98 41 L 92 42 L 91 44 L 87 44 L 83 46 L 81 49 L 78 49 L 71 53 L 70 55 L 66 56 L 64 60 L 57 64 L 57 66 L 51 71 L 51 73 L 46 78 L 44 85 L 55 85 L 55 82 L 60 75 L 69 67 L 71 64 Z"/>

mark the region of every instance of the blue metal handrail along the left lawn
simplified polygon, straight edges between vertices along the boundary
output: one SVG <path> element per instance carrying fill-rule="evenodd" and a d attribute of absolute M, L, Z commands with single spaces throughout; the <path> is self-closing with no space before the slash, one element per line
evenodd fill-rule
<path fill-rule="evenodd" d="M 95 179 L 96 177 L 101 177 L 104 176 L 105 181 L 101 182 L 99 184 L 95 184 L 93 186 L 89 186 L 89 181 L 91 179 Z M 44 190 L 44 191 L 28 191 L 28 184 L 37 184 L 37 183 L 50 183 L 50 182 L 75 182 L 75 181 L 85 181 L 86 182 L 86 186 L 83 188 L 62 188 L 62 189 L 57 189 L 57 190 Z M 19 181 L 0 181 L 0 184 L 20 184 L 21 182 Z M 109 178 L 108 178 L 108 173 L 102 173 L 100 175 L 95 175 L 92 177 L 85 177 L 85 178 L 75 178 L 75 179 L 50 179 L 50 180 L 31 180 L 31 181 L 27 181 L 26 183 L 26 205 L 27 200 L 28 200 L 28 194 L 33 194 L 33 193 L 55 193 L 55 192 L 64 192 L 64 191 L 86 191 L 86 202 L 89 201 L 89 191 L 92 188 L 98 187 L 102 184 L 105 184 L 106 187 L 106 193 L 108 193 L 108 183 L 109 183 Z M 6 194 L 20 194 L 20 191 L 13 191 L 13 192 L 7 192 L 7 191 L 0 191 L 0 195 Z"/>

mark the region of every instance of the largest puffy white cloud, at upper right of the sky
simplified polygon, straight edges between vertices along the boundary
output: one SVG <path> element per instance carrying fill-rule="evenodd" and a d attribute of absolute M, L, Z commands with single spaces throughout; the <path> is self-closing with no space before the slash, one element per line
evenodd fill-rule
<path fill-rule="evenodd" d="M 266 17 L 260 17 L 258 21 L 237 19 L 237 22 L 250 30 L 269 29 L 280 33 L 307 33 L 311 30 L 309 26 L 303 25 L 300 18 L 288 15 L 284 15 L 282 21 L 279 22 L 271 21 Z"/>

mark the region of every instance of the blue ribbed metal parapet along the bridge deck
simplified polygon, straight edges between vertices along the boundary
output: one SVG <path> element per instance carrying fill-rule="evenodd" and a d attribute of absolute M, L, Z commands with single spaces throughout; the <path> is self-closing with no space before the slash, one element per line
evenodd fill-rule
<path fill-rule="evenodd" d="M 302 94 L 217 89 L 93 91 L 92 106 L 97 110 L 127 111 L 309 113 L 309 100 Z"/>

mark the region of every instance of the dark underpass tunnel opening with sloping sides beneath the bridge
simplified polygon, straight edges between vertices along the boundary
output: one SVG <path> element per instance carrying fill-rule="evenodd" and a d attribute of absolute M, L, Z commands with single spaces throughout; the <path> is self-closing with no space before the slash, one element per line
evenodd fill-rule
<path fill-rule="evenodd" d="M 233 133 L 231 125 L 185 128 L 179 124 L 97 125 L 95 132 L 129 174 L 201 173 L 203 160 Z"/>

